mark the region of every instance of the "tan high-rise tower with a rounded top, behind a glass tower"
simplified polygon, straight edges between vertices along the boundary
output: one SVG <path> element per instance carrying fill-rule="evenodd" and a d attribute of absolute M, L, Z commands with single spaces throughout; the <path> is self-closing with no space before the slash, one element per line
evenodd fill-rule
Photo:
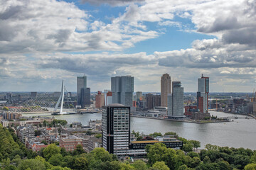
<path fill-rule="evenodd" d="M 161 106 L 167 107 L 167 96 L 171 94 L 171 77 L 163 74 L 161 77 Z"/>

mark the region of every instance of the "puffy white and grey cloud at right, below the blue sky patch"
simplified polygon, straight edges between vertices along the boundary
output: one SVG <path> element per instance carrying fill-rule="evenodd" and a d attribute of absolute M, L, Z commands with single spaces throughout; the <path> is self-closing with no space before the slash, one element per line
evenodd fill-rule
<path fill-rule="evenodd" d="M 231 47 L 230 47 L 231 46 Z M 221 68 L 256 67 L 256 50 L 236 48 L 240 45 L 227 45 L 220 40 L 196 40 L 193 48 L 169 52 L 154 52 L 159 65 L 165 67 Z M 229 50 L 232 48 L 233 50 Z"/>

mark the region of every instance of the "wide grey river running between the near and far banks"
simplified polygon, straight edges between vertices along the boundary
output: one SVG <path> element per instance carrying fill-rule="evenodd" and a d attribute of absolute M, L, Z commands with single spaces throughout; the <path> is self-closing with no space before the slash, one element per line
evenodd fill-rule
<path fill-rule="evenodd" d="M 235 114 L 210 111 L 211 115 L 218 117 L 233 116 Z M 27 116 L 27 115 L 26 115 Z M 237 115 L 246 117 L 245 115 Z M 84 115 L 55 115 L 57 119 L 65 119 L 68 123 L 81 122 L 88 125 L 90 120 L 101 119 L 101 113 Z M 188 140 L 198 140 L 201 148 L 206 144 L 228 147 L 244 147 L 256 149 L 256 120 L 234 119 L 228 123 L 183 123 L 166 120 L 154 120 L 146 118 L 131 118 L 131 131 L 149 134 L 153 132 L 176 132 L 179 136 Z"/>

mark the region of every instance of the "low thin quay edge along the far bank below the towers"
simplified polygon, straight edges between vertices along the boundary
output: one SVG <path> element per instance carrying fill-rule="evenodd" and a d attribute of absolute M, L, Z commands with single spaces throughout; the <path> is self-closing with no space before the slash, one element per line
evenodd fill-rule
<path fill-rule="evenodd" d="M 154 120 L 167 120 L 173 122 L 183 122 L 183 123 L 196 123 L 196 124 L 205 124 L 205 123 L 225 123 L 230 122 L 229 120 L 178 120 L 178 119 L 164 119 L 164 118 L 152 118 L 152 117 L 145 117 L 139 115 L 131 115 L 134 118 L 147 118 L 147 119 L 154 119 Z"/>

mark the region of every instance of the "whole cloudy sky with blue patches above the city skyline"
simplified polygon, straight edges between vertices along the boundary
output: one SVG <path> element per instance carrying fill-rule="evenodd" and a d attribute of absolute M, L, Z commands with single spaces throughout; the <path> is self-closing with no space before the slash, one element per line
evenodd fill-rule
<path fill-rule="evenodd" d="M 1 0 L 0 91 L 91 91 L 131 75 L 160 91 L 161 75 L 197 91 L 252 92 L 256 0 Z"/>

